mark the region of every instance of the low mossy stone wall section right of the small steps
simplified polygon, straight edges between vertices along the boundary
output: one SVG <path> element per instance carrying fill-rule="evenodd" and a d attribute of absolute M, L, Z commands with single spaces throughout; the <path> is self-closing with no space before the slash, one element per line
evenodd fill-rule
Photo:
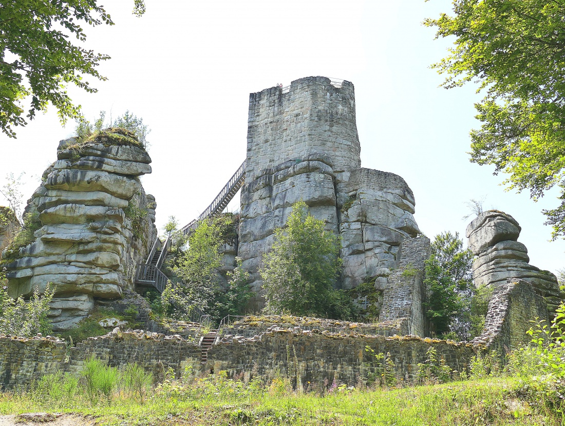
<path fill-rule="evenodd" d="M 349 336 L 278 329 L 259 338 L 220 342 L 208 351 L 207 368 L 228 371 L 229 376 L 253 371 L 268 380 L 277 374 L 297 377 L 295 386 L 319 385 L 324 379 L 355 385 L 375 371 L 375 361 L 365 349 L 390 353 L 396 373 L 403 379 L 414 379 L 418 363 L 425 362 L 426 351 L 433 346 L 444 357 L 451 370 L 463 371 L 478 347 L 419 337 Z"/>

